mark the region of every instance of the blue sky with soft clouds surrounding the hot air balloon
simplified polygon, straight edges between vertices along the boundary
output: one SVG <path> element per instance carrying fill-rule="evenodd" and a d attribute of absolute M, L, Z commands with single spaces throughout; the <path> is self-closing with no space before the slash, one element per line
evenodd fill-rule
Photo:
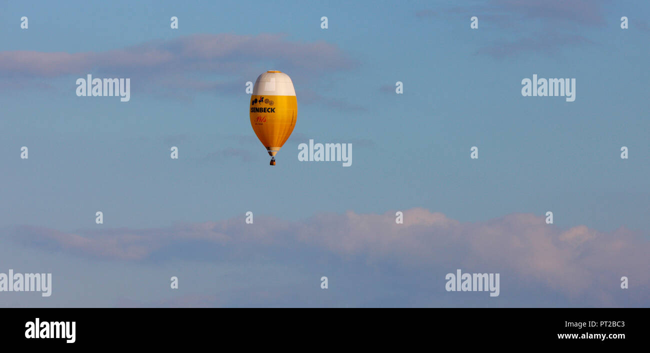
<path fill-rule="evenodd" d="M 649 9 L 645 1 L 3 3 L 0 272 L 52 268 L 55 289 L 47 299 L 1 293 L 0 305 L 647 306 L 639 290 L 650 287 L 649 266 L 633 249 L 648 248 L 650 230 Z M 172 59 L 148 61 L 160 53 Z M 273 168 L 245 107 L 246 81 L 265 70 L 289 74 L 298 99 Z M 131 101 L 77 97 L 75 80 L 88 73 L 131 77 Z M 521 96 L 534 73 L 575 78 L 576 100 Z M 352 143 L 352 166 L 298 161 L 310 138 Z M 21 146 L 29 159 L 19 158 Z M 406 217 L 406 229 L 376 228 L 406 210 L 423 215 Z M 246 211 L 255 215 L 249 229 Z M 547 211 L 554 224 L 539 228 Z M 438 229 L 437 213 L 458 228 Z M 510 227 L 509 217 L 523 220 Z M 210 230 L 198 237 L 208 244 L 183 238 L 178 224 L 203 224 Z M 585 260 L 575 276 L 588 281 L 575 289 L 568 269 L 528 272 L 514 255 L 503 264 L 498 250 L 477 250 L 495 236 L 493 224 L 501 248 L 529 232 L 555 246 L 544 252 L 531 241 L 513 252 L 541 251 L 567 267 L 586 254 L 612 262 Z M 230 240 L 214 244 L 221 232 Z M 426 234 L 438 232 L 462 236 L 437 246 Z M 164 245 L 142 240 L 144 255 L 120 238 L 149 233 L 164 233 Z M 574 233 L 591 252 L 562 242 Z M 274 240 L 258 247 L 240 243 L 244 234 Z M 328 235 L 349 246 L 317 240 Z M 601 249 L 617 237 L 629 237 L 632 254 Z M 98 250 L 113 245 L 113 255 Z M 456 256 L 428 260 L 446 252 Z M 444 291 L 447 272 L 469 267 L 502 271 L 499 298 Z M 636 289 L 621 291 L 619 278 L 636 272 Z M 179 277 L 176 292 L 170 276 Z M 320 276 L 339 285 L 322 291 Z"/>

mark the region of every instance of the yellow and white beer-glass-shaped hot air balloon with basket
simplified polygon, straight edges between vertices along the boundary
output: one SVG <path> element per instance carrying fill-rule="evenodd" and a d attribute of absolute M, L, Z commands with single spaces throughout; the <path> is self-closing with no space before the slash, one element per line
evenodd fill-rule
<path fill-rule="evenodd" d="M 289 75 L 279 71 L 267 71 L 257 77 L 250 97 L 250 125 L 262 142 L 270 165 L 276 165 L 276 153 L 296 126 L 298 102 Z"/>

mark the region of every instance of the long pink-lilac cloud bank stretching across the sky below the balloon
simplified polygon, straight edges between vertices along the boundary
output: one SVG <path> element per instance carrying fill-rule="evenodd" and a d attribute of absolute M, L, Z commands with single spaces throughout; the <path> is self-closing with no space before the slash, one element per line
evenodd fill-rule
<path fill-rule="evenodd" d="M 624 228 L 610 233 L 586 226 L 560 229 L 528 214 L 459 222 L 426 209 L 405 211 L 404 224 L 396 224 L 392 212 L 321 213 L 300 222 L 256 216 L 255 224 L 244 224 L 243 219 L 75 233 L 19 226 L 10 238 L 25 246 L 122 261 L 145 261 L 165 249 L 192 249 L 194 244 L 194 250 L 209 250 L 219 261 L 241 261 L 251 249 L 277 255 L 298 248 L 414 269 L 497 269 L 522 283 L 594 300 L 601 300 L 596 297 L 606 288 L 616 289 L 621 276 L 634 278 L 637 288 L 650 289 L 650 243 Z"/>

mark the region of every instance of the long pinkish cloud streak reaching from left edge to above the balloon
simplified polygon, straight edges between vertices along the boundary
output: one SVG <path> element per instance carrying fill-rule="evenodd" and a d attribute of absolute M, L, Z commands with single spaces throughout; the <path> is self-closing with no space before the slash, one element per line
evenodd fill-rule
<path fill-rule="evenodd" d="M 103 52 L 0 51 L 0 75 L 54 77 L 79 75 L 89 70 L 155 74 L 170 70 L 228 73 L 235 69 L 243 73 L 262 64 L 322 73 L 349 70 L 357 65 L 333 44 L 291 41 L 285 37 L 281 34 L 194 34 Z M 259 55 L 261 51 L 265 53 L 264 59 Z"/>

